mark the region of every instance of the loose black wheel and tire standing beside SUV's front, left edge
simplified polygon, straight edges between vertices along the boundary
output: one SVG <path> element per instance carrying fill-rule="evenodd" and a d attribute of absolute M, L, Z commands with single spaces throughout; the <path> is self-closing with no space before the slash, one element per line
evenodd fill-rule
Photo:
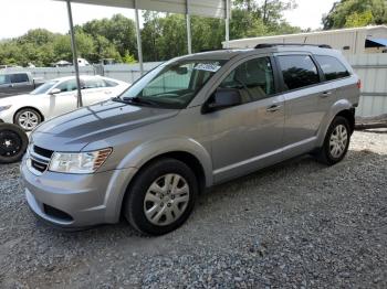
<path fill-rule="evenodd" d="M 20 161 L 29 144 L 24 130 L 11 124 L 0 124 L 0 163 Z"/>

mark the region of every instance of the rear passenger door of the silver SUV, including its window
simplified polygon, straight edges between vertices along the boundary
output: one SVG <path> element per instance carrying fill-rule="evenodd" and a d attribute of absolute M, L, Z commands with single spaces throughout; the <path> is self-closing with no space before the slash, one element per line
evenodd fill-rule
<path fill-rule="evenodd" d="M 322 83 L 322 75 L 310 54 L 278 54 L 285 100 L 285 158 L 314 148 L 322 111 L 320 100 L 330 96 L 332 85 Z M 287 153 L 287 154 L 286 154 Z"/>

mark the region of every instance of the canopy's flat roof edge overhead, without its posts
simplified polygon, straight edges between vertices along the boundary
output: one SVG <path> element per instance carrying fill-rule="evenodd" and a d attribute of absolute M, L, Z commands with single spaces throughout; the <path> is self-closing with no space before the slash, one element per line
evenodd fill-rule
<path fill-rule="evenodd" d="M 55 0 L 63 1 L 65 0 Z M 181 13 L 211 18 L 226 18 L 229 0 L 138 0 L 137 9 L 159 12 Z M 135 0 L 71 0 L 73 3 L 105 7 L 136 8 Z M 187 6 L 188 3 L 188 6 Z"/>

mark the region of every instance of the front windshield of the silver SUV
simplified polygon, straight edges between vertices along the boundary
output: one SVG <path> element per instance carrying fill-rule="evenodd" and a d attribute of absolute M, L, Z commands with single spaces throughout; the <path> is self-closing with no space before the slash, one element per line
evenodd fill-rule
<path fill-rule="evenodd" d="M 185 108 L 226 61 L 161 64 L 130 86 L 119 100 L 164 108 Z"/>

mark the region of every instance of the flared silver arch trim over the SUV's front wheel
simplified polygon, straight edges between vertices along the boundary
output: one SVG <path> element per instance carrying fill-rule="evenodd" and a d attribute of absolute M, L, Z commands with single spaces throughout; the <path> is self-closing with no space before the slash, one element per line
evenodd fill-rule
<path fill-rule="evenodd" d="M 207 149 L 192 138 L 165 138 L 144 142 L 133 149 L 118 164 L 118 169 L 136 168 L 140 169 L 151 159 L 168 152 L 187 152 L 194 156 L 201 164 L 206 186 L 213 183 L 212 161 Z"/>

